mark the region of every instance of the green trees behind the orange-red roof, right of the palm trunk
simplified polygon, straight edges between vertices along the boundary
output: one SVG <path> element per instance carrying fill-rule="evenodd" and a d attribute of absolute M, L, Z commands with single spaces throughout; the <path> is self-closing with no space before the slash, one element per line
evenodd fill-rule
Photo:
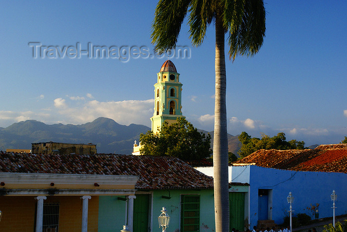
<path fill-rule="evenodd" d="M 269 137 L 266 134 L 262 134 L 262 138 L 252 138 L 246 132 L 242 132 L 238 136 L 238 140 L 241 142 L 241 148 L 237 152 L 241 158 L 244 158 L 255 151 L 260 149 L 277 149 L 277 150 L 289 150 L 289 149 L 306 149 L 304 141 L 296 141 L 295 139 L 286 141 L 285 133 L 278 133 L 274 137 Z"/>

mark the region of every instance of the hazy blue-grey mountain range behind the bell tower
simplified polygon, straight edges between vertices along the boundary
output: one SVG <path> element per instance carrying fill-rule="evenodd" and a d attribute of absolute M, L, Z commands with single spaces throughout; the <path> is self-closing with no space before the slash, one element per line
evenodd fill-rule
<path fill-rule="evenodd" d="M 0 127 L 0 150 L 31 149 L 31 143 L 93 143 L 98 153 L 131 154 L 134 140 L 139 140 L 140 133 L 151 130 L 148 126 L 118 124 L 115 120 L 99 117 L 85 124 L 53 124 L 48 125 L 36 120 L 26 120 Z M 213 131 L 211 146 L 213 145 Z M 239 149 L 237 136 L 228 134 L 229 151 L 237 154 Z"/>

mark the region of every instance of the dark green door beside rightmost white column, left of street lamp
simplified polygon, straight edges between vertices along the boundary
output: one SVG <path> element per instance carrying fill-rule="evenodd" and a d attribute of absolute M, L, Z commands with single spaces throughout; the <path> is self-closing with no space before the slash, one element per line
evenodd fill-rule
<path fill-rule="evenodd" d="M 149 194 L 134 199 L 133 232 L 148 232 Z"/>

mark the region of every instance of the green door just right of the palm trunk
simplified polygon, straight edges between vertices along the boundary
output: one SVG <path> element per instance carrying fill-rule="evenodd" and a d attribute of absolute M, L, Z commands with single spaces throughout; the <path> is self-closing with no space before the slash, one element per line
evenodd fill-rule
<path fill-rule="evenodd" d="M 230 231 L 244 231 L 244 192 L 229 193 Z"/>

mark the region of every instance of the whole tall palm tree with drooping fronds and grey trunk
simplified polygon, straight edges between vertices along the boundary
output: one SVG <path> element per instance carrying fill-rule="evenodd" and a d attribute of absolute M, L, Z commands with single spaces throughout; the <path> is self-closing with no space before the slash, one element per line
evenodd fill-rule
<path fill-rule="evenodd" d="M 207 26 L 216 30 L 216 93 L 213 143 L 216 232 L 229 231 L 228 138 L 226 109 L 225 34 L 229 57 L 252 56 L 265 37 L 263 0 L 160 0 L 152 25 L 152 43 L 159 53 L 174 49 L 181 24 L 188 24 L 193 46 L 200 46 Z"/>

